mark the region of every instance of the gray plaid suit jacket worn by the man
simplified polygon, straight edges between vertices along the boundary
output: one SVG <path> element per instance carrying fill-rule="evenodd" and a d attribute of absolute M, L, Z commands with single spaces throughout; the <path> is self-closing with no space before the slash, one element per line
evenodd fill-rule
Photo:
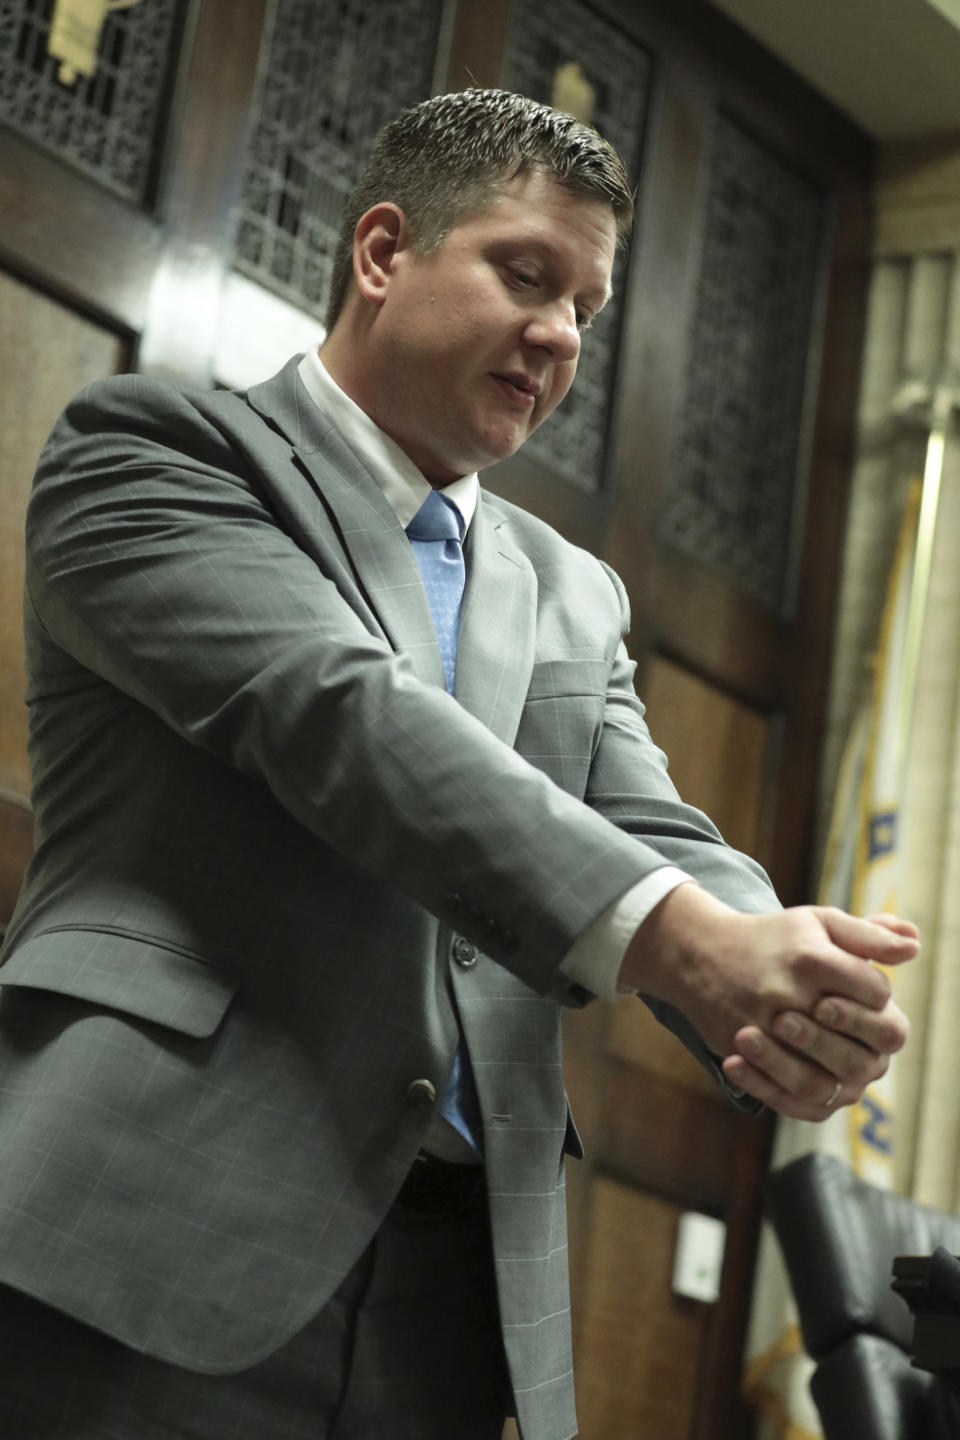
<path fill-rule="evenodd" d="M 377 1230 L 459 1012 L 520 1423 L 554 1440 L 560 1014 L 590 998 L 560 962 L 664 861 L 776 900 L 666 776 L 617 579 L 488 494 L 445 693 L 410 546 L 295 364 L 248 395 L 94 384 L 40 459 L 0 1279 L 178 1365 L 255 1364 Z"/>

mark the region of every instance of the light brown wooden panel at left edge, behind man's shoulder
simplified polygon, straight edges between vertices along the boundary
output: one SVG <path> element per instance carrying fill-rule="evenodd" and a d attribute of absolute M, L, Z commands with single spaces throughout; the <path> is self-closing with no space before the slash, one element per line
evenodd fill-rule
<path fill-rule="evenodd" d="M 124 344 L 0 272 L 0 788 L 29 793 L 23 706 L 23 516 L 55 419 L 81 386 L 124 367 Z"/>

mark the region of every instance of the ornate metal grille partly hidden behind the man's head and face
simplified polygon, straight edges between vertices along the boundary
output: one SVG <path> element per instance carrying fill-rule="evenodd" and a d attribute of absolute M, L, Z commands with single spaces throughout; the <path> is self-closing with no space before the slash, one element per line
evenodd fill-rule
<path fill-rule="evenodd" d="M 639 164 L 651 79 L 651 56 L 609 20 L 577 0 L 511 4 L 507 85 L 564 109 L 564 73 L 587 101 L 589 122 L 632 167 Z M 636 181 L 636 174 L 633 174 Z M 613 269 L 613 300 L 583 337 L 577 383 L 530 438 L 524 454 L 584 491 L 603 481 L 616 383 L 626 261 Z"/>

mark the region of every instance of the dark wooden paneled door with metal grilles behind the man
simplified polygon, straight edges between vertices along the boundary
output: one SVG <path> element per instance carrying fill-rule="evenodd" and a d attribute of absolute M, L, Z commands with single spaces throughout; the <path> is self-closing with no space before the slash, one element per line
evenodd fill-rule
<path fill-rule="evenodd" d="M 681 792 L 803 899 L 864 137 L 699 0 L 138 0 L 69 84 L 52 10 L 0 16 L 0 923 L 29 848 L 17 596 L 43 432 L 98 374 L 246 384 L 315 340 L 377 124 L 468 84 L 587 111 L 638 179 L 571 400 L 488 480 L 616 566 Z M 581 1433 L 731 1440 L 769 1123 L 639 1002 L 573 1017 L 567 1051 Z M 715 1305 L 671 1290 L 687 1210 L 727 1225 Z"/>

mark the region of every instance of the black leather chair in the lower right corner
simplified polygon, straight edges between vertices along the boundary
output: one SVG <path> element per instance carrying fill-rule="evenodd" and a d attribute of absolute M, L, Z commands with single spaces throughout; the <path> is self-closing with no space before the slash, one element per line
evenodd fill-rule
<path fill-rule="evenodd" d="M 826 1440 L 960 1440 L 954 1377 L 911 1364 L 914 1318 L 891 1290 L 897 1256 L 960 1253 L 960 1218 L 868 1185 L 829 1155 L 774 1171 L 766 1201 Z"/>

